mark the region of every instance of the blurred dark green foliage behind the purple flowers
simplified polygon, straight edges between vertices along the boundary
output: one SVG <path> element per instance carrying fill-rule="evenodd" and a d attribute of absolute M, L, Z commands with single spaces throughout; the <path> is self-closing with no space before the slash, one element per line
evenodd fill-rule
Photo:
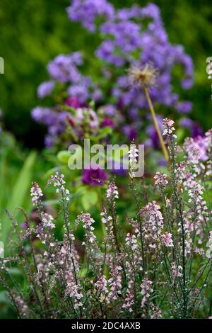
<path fill-rule="evenodd" d="M 150 1 L 114 0 L 117 7 Z M 212 126 L 211 84 L 206 74 L 206 58 L 211 56 L 211 1 L 155 0 L 160 7 L 171 43 L 181 44 L 194 61 L 195 83 L 181 92 L 193 101 L 192 118 L 206 130 Z M 30 110 L 37 104 L 37 86 L 48 79 L 47 63 L 59 53 L 83 50 L 93 56 L 98 40 L 66 14 L 69 0 L 1 0 L 0 56 L 5 74 L 0 77 L 0 108 L 4 126 L 25 147 L 42 147 L 45 128 L 33 123 Z M 92 63 L 92 59 L 91 63 Z M 92 74 L 93 68 L 89 68 Z"/>

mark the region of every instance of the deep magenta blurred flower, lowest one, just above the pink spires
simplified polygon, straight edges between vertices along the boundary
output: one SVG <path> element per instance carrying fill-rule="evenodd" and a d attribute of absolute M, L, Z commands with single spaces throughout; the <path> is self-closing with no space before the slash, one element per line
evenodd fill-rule
<path fill-rule="evenodd" d="M 90 169 L 83 169 L 83 176 L 82 176 L 82 182 L 84 184 L 89 184 L 92 186 L 100 186 L 105 183 L 107 180 L 107 174 L 105 170 L 98 169 L 94 170 L 91 168 Z"/>

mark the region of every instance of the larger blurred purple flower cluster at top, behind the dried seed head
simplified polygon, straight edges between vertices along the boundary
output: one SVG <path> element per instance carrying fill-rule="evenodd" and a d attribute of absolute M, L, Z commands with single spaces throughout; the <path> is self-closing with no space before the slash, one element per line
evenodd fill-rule
<path fill-rule="evenodd" d="M 90 15 L 87 13 L 88 6 Z M 179 96 L 172 92 L 171 71 L 175 64 L 182 64 L 184 78 L 181 86 L 182 89 L 189 89 L 193 82 L 192 59 L 185 54 L 181 45 L 170 44 L 158 6 L 148 4 L 141 8 L 135 5 L 115 11 L 112 4 L 105 0 L 75 0 L 71 2 L 68 12 L 71 13 L 69 18 L 72 21 L 80 21 L 86 28 L 90 26 L 92 18 L 93 28 L 90 31 L 98 30 L 103 36 L 102 44 L 95 55 L 103 60 L 106 66 L 126 68 L 134 62 L 152 62 L 160 71 L 157 86 L 151 91 L 153 100 L 172 106 L 179 113 L 188 113 L 191 110 L 192 104 L 189 101 L 179 102 Z M 95 26 L 94 18 L 98 18 L 102 13 L 108 14 L 105 21 L 100 26 Z M 143 28 L 146 23 L 147 28 Z M 133 112 L 146 107 L 146 99 L 140 91 L 129 91 L 124 71 L 117 75 L 112 95 L 117 102 L 122 101 L 123 106 Z"/>

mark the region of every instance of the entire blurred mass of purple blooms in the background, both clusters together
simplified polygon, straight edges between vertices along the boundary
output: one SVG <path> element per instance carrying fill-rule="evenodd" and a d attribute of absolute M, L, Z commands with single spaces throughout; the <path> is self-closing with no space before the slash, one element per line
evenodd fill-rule
<path fill-rule="evenodd" d="M 56 105 L 52 108 L 37 107 L 32 111 L 33 119 L 48 127 L 45 138 L 47 147 L 58 142 L 64 146 L 70 143 L 63 141 L 64 132 L 67 128 L 69 132 L 73 128 L 78 129 L 77 123 L 81 117 L 79 108 L 89 108 L 91 100 L 95 101 L 103 116 L 99 121 L 100 127 L 107 124 L 117 130 L 121 128 L 122 134 L 129 140 L 136 138 L 143 126 L 140 110 L 148 106 L 143 91 L 134 84 L 134 78 L 141 72 L 151 72 L 148 85 L 151 86 L 153 102 L 175 108 L 177 113 L 183 115 L 191 111 L 192 103 L 179 101 L 179 96 L 172 91 L 171 73 L 175 64 L 182 64 L 184 78 L 181 86 L 182 89 L 189 89 L 193 82 L 192 59 L 181 45 L 170 44 L 158 6 L 148 4 L 141 8 L 134 5 L 116 10 L 107 0 L 73 0 L 67 12 L 71 21 L 81 22 L 89 33 L 98 34 L 102 39 L 93 55 L 97 60 L 99 79 L 95 84 L 92 78 L 81 73 L 81 52 L 58 55 L 49 62 L 47 69 L 50 80 L 38 87 L 37 94 L 40 98 L 53 96 Z M 128 75 L 124 68 L 129 67 Z M 131 89 L 128 77 L 133 78 Z M 76 109 L 71 119 L 67 106 Z M 142 120 L 145 117 L 143 115 Z M 192 130 L 192 120 L 189 120 L 189 125 L 188 120 L 185 118 L 182 124 Z M 90 130 L 93 133 L 93 128 Z M 152 126 L 149 131 L 152 140 L 158 144 Z M 77 130 L 76 137 L 81 137 L 82 132 L 85 132 L 85 128 Z M 93 135 L 95 132 L 96 128 Z"/>

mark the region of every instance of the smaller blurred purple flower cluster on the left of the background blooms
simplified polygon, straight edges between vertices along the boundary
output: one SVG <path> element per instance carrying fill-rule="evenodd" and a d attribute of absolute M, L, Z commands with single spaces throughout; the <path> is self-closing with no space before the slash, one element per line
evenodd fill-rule
<path fill-rule="evenodd" d="M 81 52 L 57 56 L 47 66 L 51 80 L 43 82 L 37 89 L 37 96 L 45 98 L 52 94 L 57 82 L 66 86 L 66 100 L 63 101 L 62 106 L 52 108 L 37 106 L 32 111 L 33 119 L 37 123 L 45 124 L 48 128 L 45 137 L 46 147 L 53 147 L 59 135 L 64 133 L 67 125 L 69 125 L 67 119 L 70 118 L 70 113 L 64 111 L 66 106 L 78 109 L 78 115 L 81 115 L 81 106 L 85 106 L 89 100 L 98 101 L 102 97 L 102 91 L 93 84 L 92 79 L 83 76 L 79 71 L 78 67 L 82 64 Z M 93 116 L 97 118 L 95 114 Z M 81 120 L 82 117 L 79 118 Z"/>

